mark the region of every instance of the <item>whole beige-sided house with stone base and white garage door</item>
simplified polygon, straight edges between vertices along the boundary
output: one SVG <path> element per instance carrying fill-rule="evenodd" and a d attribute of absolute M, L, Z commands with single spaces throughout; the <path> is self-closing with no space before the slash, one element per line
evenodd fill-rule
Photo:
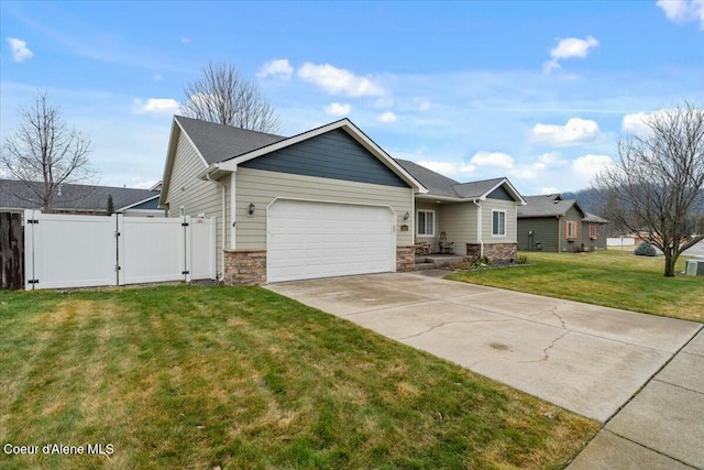
<path fill-rule="evenodd" d="M 473 250 L 484 236 L 513 243 L 515 253 L 522 199 L 508 182 L 440 194 L 418 178 L 432 186 L 442 176 L 416 170 L 349 119 L 285 138 L 176 116 L 160 200 L 169 216 L 217 219 L 217 270 L 227 284 L 410 271 L 416 238 L 435 241 L 441 231 Z M 480 209 L 490 194 L 496 214 Z M 482 236 L 461 227 L 464 219 L 483 223 Z"/>

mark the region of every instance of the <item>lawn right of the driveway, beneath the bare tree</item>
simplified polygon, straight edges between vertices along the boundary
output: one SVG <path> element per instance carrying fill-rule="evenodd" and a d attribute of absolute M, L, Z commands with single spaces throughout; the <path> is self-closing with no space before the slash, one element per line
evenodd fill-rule
<path fill-rule="evenodd" d="M 449 278 L 704 323 L 704 277 L 664 277 L 663 258 L 617 250 L 521 252 L 528 265 L 461 271 Z M 684 270 L 684 258 L 678 261 Z"/>

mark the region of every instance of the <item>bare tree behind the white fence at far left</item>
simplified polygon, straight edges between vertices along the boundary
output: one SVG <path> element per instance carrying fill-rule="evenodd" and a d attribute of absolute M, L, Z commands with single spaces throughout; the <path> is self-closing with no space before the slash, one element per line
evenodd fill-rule
<path fill-rule="evenodd" d="M 2 142 L 0 163 L 7 173 L 22 182 L 29 197 L 51 212 L 61 185 L 80 183 L 96 173 L 89 165 L 90 140 L 68 129 L 59 109 L 47 103 L 46 92 L 37 92 L 34 106 L 20 110 L 20 127 Z"/>

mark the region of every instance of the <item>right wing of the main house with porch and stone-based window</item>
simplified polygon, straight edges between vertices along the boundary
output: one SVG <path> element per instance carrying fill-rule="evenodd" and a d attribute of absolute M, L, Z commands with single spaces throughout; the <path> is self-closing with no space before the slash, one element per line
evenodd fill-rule
<path fill-rule="evenodd" d="M 458 254 L 516 258 L 516 214 L 525 204 L 506 178 L 458 183 L 417 163 L 397 162 L 427 189 L 416 196 L 416 240 L 438 247 L 440 236 Z"/>

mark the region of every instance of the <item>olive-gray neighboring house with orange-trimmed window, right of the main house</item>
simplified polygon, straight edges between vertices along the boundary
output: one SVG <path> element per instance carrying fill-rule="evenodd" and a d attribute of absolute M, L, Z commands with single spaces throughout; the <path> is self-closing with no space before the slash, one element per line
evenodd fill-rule
<path fill-rule="evenodd" d="M 605 250 L 608 223 L 582 209 L 574 199 L 559 194 L 526 196 L 518 209 L 518 249 L 526 251 L 574 252 Z"/>

